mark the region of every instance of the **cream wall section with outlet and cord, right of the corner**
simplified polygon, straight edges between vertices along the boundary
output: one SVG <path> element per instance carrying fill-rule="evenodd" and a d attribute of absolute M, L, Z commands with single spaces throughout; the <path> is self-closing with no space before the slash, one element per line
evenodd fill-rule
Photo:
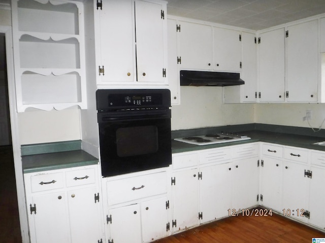
<path fill-rule="evenodd" d="M 294 127 L 309 127 L 303 120 L 306 110 L 312 110 L 309 121 L 313 128 L 318 128 L 325 118 L 325 104 L 314 103 L 282 103 L 256 104 L 255 122 Z M 325 128 L 325 126 L 323 126 Z"/>

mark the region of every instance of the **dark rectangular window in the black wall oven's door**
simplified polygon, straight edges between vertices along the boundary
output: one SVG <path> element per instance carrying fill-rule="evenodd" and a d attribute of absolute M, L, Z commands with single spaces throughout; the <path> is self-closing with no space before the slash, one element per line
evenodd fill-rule
<path fill-rule="evenodd" d="M 155 153 L 158 151 L 156 126 L 118 128 L 116 149 L 119 157 Z"/>

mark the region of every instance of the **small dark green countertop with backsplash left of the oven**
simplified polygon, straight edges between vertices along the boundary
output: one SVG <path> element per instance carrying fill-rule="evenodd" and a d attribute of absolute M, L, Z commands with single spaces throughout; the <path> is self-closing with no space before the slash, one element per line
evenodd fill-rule
<path fill-rule="evenodd" d="M 81 149 L 81 141 L 24 145 L 24 173 L 66 169 L 99 164 L 99 159 Z"/>

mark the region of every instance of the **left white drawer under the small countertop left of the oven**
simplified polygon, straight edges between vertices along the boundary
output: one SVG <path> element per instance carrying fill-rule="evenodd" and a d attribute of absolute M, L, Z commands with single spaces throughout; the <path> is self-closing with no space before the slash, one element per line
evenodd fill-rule
<path fill-rule="evenodd" d="M 31 192 L 63 188 L 63 173 L 40 174 L 30 177 Z"/>

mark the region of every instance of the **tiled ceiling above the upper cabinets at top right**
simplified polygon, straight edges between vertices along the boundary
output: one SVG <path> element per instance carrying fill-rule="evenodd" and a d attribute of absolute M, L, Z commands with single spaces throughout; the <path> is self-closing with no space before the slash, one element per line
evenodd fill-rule
<path fill-rule="evenodd" d="M 325 0 L 167 0 L 167 13 L 252 30 L 325 13 Z"/>

